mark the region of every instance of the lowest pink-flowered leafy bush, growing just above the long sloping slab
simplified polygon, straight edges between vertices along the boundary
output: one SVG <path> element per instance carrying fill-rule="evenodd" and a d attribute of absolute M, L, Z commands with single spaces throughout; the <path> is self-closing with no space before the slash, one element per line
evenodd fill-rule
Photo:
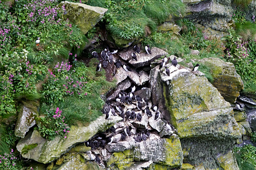
<path fill-rule="evenodd" d="M 48 140 L 53 140 L 57 135 L 67 138 L 70 128 L 61 112 L 57 107 L 56 110 L 46 110 L 46 113 L 41 118 L 37 118 L 38 127 L 36 129 L 41 133 L 42 137 Z"/>

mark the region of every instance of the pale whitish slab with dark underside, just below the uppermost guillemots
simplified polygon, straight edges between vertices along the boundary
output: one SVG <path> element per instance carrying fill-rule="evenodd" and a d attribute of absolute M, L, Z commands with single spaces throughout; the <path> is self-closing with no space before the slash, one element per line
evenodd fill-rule
<path fill-rule="evenodd" d="M 130 60 L 129 63 L 136 68 L 143 67 L 143 66 L 150 65 L 150 63 L 155 59 L 168 54 L 167 52 L 156 47 L 152 47 L 151 52 L 152 54 L 146 54 L 144 52 L 141 52 L 140 56 L 137 56 L 137 61 Z"/>

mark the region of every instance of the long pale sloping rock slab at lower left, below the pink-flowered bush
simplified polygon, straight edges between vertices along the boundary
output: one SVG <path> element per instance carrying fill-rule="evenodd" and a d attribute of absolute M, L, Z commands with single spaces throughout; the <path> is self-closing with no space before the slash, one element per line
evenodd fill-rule
<path fill-rule="evenodd" d="M 46 164 L 57 159 L 76 143 L 90 139 L 96 133 L 105 131 L 121 120 L 122 118 L 119 116 L 111 116 L 111 119 L 106 120 L 103 115 L 87 126 L 71 126 L 67 138 L 57 136 L 51 141 L 42 138 L 39 132 L 34 130 L 33 133 L 31 132 L 21 139 L 16 148 L 22 152 L 25 145 L 37 143 L 38 146 L 29 150 L 28 154 L 23 157 L 28 158 L 30 156 L 30 159 Z"/>

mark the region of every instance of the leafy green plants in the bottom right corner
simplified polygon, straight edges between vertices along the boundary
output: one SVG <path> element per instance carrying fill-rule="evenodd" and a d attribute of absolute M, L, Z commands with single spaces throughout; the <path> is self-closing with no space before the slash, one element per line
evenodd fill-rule
<path fill-rule="evenodd" d="M 234 148 L 236 152 L 237 164 L 240 170 L 256 169 L 256 147 L 245 145 L 241 148 Z"/>

